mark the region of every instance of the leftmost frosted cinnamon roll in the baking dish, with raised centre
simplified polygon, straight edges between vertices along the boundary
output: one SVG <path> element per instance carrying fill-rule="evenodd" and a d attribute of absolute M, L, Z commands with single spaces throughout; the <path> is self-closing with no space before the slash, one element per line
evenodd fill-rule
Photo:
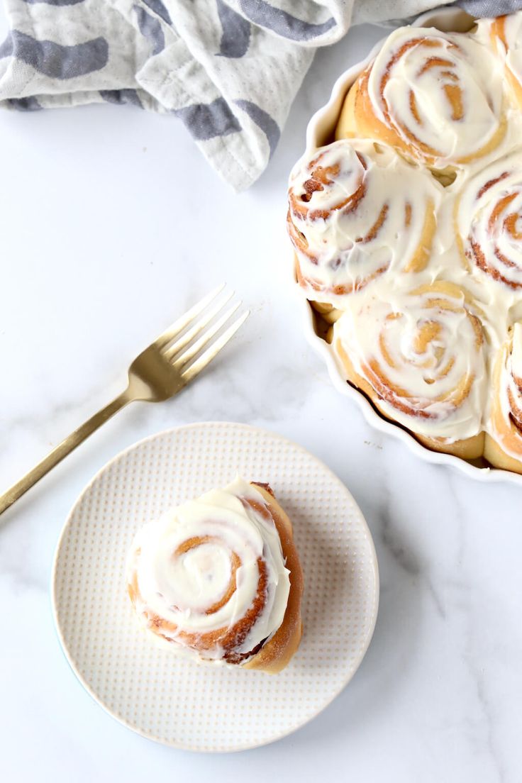
<path fill-rule="evenodd" d="M 441 190 L 427 171 L 365 139 L 304 157 L 288 196 L 297 280 L 311 298 L 335 302 L 389 269 L 424 269 Z"/>

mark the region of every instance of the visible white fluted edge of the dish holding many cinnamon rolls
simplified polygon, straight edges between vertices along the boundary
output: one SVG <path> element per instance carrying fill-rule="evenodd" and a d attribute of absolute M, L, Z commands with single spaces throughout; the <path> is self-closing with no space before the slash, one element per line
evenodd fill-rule
<path fill-rule="evenodd" d="M 425 13 L 423 16 L 419 16 L 419 19 L 417 19 L 414 24 L 418 27 L 437 27 L 439 30 L 462 32 L 468 30 L 472 22 L 472 17 L 460 9 L 438 9 Z M 385 40 L 386 38 L 383 38 L 383 41 Z M 333 141 L 337 120 L 339 119 L 340 110 L 348 89 L 351 88 L 351 85 L 353 85 L 361 71 L 365 69 L 370 60 L 372 60 L 380 50 L 383 41 L 380 41 L 380 43 L 373 47 L 365 60 L 362 60 L 361 63 L 357 63 L 346 70 L 344 74 L 337 79 L 335 85 L 333 85 L 332 94 L 328 103 L 326 103 L 326 106 L 322 106 L 322 108 L 311 117 L 306 132 L 307 154 L 316 150 L 317 147 Z M 314 348 L 315 352 L 319 353 L 326 362 L 333 385 L 342 394 L 347 395 L 347 397 L 350 397 L 358 403 L 365 420 L 376 428 L 376 430 L 386 432 L 387 434 L 398 438 L 405 443 L 412 452 L 422 457 L 423 460 L 427 460 L 427 462 L 452 465 L 469 475 L 471 478 L 478 478 L 482 481 L 509 481 L 522 485 L 522 475 L 517 473 L 502 471 L 494 467 L 475 467 L 457 456 L 431 451 L 425 446 L 421 446 L 421 444 L 416 441 L 416 438 L 414 438 L 413 435 L 410 435 L 409 431 L 402 429 L 398 424 L 393 424 L 391 421 L 380 416 L 380 413 L 377 413 L 376 409 L 361 391 L 358 391 L 358 389 L 347 384 L 344 372 L 337 361 L 333 348 L 315 334 L 312 310 L 308 301 L 306 301 L 302 295 L 299 297 L 299 300 L 303 309 L 304 330 L 307 340 L 312 348 Z"/>

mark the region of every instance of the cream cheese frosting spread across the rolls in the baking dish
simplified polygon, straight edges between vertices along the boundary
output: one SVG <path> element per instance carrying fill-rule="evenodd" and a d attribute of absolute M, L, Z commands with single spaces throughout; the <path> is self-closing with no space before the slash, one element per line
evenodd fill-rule
<path fill-rule="evenodd" d="M 508 420 L 509 395 L 522 410 L 522 111 L 509 98 L 504 76 L 507 62 L 522 74 L 522 12 L 506 17 L 504 57 L 491 47 L 489 26 L 491 20 L 481 22 L 470 34 L 400 28 L 376 55 L 368 78 L 373 108 L 410 146 L 415 136 L 418 166 L 405 163 L 400 146 L 342 139 L 311 150 L 290 176 L 290 219 L 306 240 L 304 249 L 293 243 L 301 290 L 342 313 L 333 324 L 334 351 L 342 347 L 383 413 L 448 444 L 483 431 L 495 437 L 495 393 Z M 431 49 L 415 42 L 426 37 L 434 41 Z M 454 87 L 456 104 L 449 99 L 457 95 Z M 461 117 L 453 114 L 457 104 Z M 430 173 L 430 161 L 421 164 L 427 150 L 437 151 L 438 168 L 454 166 L 447 186 Z M 322 154 L 327 166 L 335 161 L 354 179 L 337 182 L 333 176 L 327 188 L 311 191 L 309 211 L 300 214 L 292 195 L 306 192 L 310 164 Z M 358 156 L 367 163 L 359 179 Z M 338 208 L 332 218 L 340 194 L 353 192 L 358 182 L 365 182 L 365 199 L 347 214 Z M 379 241 L 358 244 L 383 204 Z M 405 204 L 412 204 L 408 226 Z M 432 236 L 423 240 L 427 260 L 409 268 L 426 227 L 427 204 L 434 211 Z M 328 217 L 311 218 L 313 210 Z M 364 264 L 365 284 L 340 292 L 346 270 L 356 280 Z M 495 392 L 495 364 L 508 342 Z M 506 448 L 518 460 L 522 432 L 520 438 L 520 451 Z"/>

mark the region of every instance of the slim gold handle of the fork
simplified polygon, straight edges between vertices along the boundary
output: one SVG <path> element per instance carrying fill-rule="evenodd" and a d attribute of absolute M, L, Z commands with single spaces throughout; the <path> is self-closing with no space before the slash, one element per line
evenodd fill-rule
<path fill-rule="evenodd" d="M 38 465 L 35 465 L 32 471 L 26 473 L 20 478 L 19 482 L 13 484 L 12 487 L 9 487 L 7 492 L 0 495 L 0 514 L 2 514 L 6 508 L 9 508 L 9 506 L 12 506 L 15 500 L 18 500 L 19 497 L 27 492 L 27 489 L 31 489 L 36 482 L 39 482 L 45 474 L 49 473 L 55 465 L 61 462 L 63 457 L 76 449 L 80 443 L 83 443 L 89 435 L 92 435 L 95 430 L 101 427 L 102 424 L 105 424 L 114 413 L 121 410 L 121 408 L 126 406 L 131 400 L 132 397 L 129 395 L 128 389 L 125 389 L 125 391 L 116 399 L 113 399 L 109 405 L 106 405 L 105 408 L 102 408 L 98 413 L 95 413 L 94 416 L 88 419 L 85 424 L 82 424 L 81 427 L 78 427 L 77 430 L 71 432 L 71 434 L 59 443 L 55 449 L 52 449 L 52 452 L 49 452 Z"/>

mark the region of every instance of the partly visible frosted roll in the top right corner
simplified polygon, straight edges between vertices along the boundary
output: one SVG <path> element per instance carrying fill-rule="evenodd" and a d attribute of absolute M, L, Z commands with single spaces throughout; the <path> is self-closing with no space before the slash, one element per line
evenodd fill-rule
<path fill-rule="evenodd" d="M 522 108 L 522 13 L 480 20 L 478 27 L 479 36 L 484 31 L 488 34 L 504 66 L 514 103 Z"/>

